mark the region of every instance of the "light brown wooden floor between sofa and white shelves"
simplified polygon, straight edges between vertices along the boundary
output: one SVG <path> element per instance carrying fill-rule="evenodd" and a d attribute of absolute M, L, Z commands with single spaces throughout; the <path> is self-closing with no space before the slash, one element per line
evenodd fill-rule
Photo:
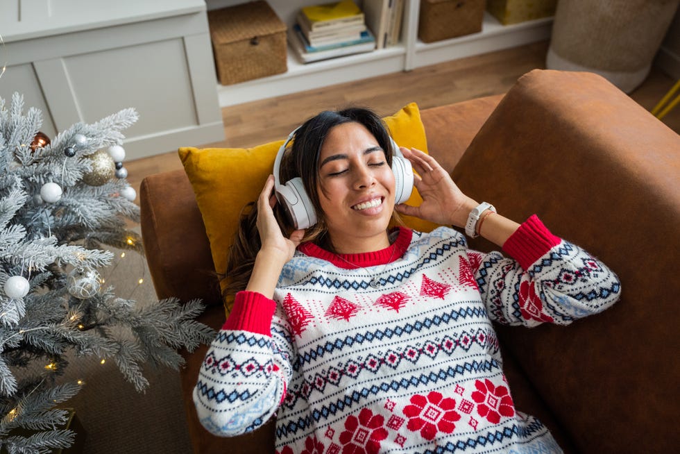
<path fill-rule="evenodd" d="M 548 42 L 486 53 L 451 62 L 421 67 L 411 72 L 367 78 L 286 96 L 223 108 L 226 140 L 193 146 L 247 147 L 286 137 L 290 131 L 321 110 L 368 106 L 380 115 L 391 115 L 415 101 L 420 109 L 507 92 L 518 77 L 532 69 L 545 68 Z M 651 110 L 674 81 L 652 68 L 643 85 L 629 96 Z M 559 87 L 555 87 L 559 90 Z M 680 133 L 680 108 L 663 119 Z M 186 144 L 178 144 L 186 145 Z M 128 181 L 137 192 L 149 175 L 182 168 L 176 151 L 126 162 Z"/>

